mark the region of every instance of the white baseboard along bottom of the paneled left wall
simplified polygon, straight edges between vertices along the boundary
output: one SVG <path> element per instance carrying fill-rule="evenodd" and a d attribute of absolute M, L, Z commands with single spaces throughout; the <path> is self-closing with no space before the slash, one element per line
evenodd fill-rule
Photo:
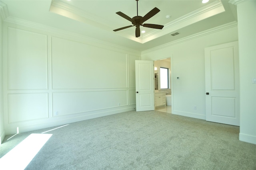
<path fill-rule="evenodd" d="M 82 115 L 82 116 L 76 116 L 76 117 L 72 117 L 72 118 L 56 120 L 56 121 L 51 121 L 51 122 L 47 122 L 47 123 L 40 123 L 40 124 L 36 124 L 36 125 L 19 126 L 19 132 L 24 133 L 24 132 L 28 132 L 28 131 L 40 130 L 40 129 L 49 128 L 49 127 L 66 125 L 66 124 L 70 124 L 70 123 L 74 123 L 74 122 L 78 122 L 78 121 L 84 121 L 84 120 L 88 120 L 88 119 L 94 119 L 94 118 L 98 118 L 98 117 L 114 115 L 117 113 L 122 113 L 122 112 L 132 111 L 132 110 L 134 110 L 134 106 L 120 108 L 120 109 L 116 109 L 116 110 L 102 111 L 102 112 L 97 112 L 97 113 L 92 113 L 92 114 L 87 114 L 87 115 Z M 5 129 L 6 135 L 13 135 L 13 134 L 16 134 L 16 132 L 17 132 L 16 128 Z"/>

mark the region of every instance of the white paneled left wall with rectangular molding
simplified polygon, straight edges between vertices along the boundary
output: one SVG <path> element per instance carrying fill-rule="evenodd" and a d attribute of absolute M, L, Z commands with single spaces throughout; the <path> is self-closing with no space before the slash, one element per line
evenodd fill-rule
<path fill-rule="evenodd" d="M 4 22 L 6 135 L 135 108 L 138 51 L 33 24 Z"/>

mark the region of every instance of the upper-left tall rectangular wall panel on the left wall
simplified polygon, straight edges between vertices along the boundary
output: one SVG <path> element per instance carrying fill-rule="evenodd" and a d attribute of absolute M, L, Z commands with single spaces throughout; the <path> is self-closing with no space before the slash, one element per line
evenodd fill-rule
<path fill-rule="evenodd" d="M 47 90 L 47 35 L 8 27 L 8 90 Z"/>

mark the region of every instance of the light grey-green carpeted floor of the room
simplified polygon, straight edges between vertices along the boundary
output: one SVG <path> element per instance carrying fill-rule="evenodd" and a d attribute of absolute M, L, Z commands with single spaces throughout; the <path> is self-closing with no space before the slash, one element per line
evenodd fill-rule
<path fill-rule="evenodd" d="M 0 145 L 1 156 L 31 133 Z M 256 170 L 256 145 L 239 127 L 160 111 L 128 111 L 71 123 L 53 134 L 27 170 Z"/>

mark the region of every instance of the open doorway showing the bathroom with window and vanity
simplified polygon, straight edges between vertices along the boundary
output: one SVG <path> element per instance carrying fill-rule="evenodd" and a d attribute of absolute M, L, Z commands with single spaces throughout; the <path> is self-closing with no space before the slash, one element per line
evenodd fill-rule
<path fill-rule="evenodd" d="M 171 59 L 154 61 L 155 110 L 172 113 Z"/>

